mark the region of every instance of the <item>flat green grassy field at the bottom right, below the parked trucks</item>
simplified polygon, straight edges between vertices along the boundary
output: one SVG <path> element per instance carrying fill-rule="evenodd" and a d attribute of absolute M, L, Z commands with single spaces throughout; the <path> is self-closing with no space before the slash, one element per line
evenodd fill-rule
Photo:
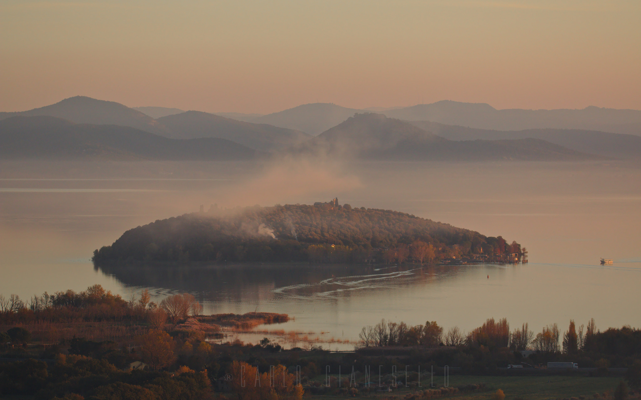
<path fill-rule="evenodd" d="M 621 378 L 599 377 L 589 378 L 585 376 L 465 376 L 451 375 L 449 386 L 458 387 L 469 383 L 485 383 L 486 390 L 474 393 L 454 394 L 449 397 L 437 397 L 437 399 L 457 400 L 488 400 L 497 389 L 502 389 L 505 400 L 548 400 L 563 399 L 569 397 L 585 396 L 586 399 L 595 399 L 596 393 L 599 399 L 606 398 L 604 393 L 612 394 L 619 384 Z M 363 396 L 361 398 L 398 398 L 403 397 L 415 390 L 429 388 L 429 380 L 422 381 L 422 388 L 400 388 L 391 393 Z M 434 377 L 436 387 L 444 386 L 442 376 Z M 335 396 L 312 396 L 312 399 L 325 399 Z M 638 397 L 638 395 L 636 396 Z M 358 397 L 357 397 L 358 398 Z M 612 397 L 610 397 L 612 398 Z"/>

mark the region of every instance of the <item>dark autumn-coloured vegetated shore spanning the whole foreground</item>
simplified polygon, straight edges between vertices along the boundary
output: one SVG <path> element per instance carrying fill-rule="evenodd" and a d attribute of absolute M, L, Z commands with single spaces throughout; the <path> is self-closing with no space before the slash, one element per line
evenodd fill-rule
<path fill-rule="evenodd" d="M 0 396 L 481 400 L 502 387 L 501 394 L 510 398 L 537 393 L 528 398 L 625 400 L 641 390 L 641 330 L 623 326 L 601 332 L 594 319 L 585 331 L 570 320 L 565 333 L 555 323 L 537 335 L 528 324 L 511 331 L 506 319 L 489 318 L 469 333 L 456 326 L 444 330 L 436 321 L 408 326 L 381 320 L 363 327 L 354 351 L 332 353 L 322 348 L 331 338 L 312 338 L 326 332 L 265 328 L 289 321 L 287 314 L 203 316 L 202 310 L 187 293 L 156 304 L 146 290 L 124 300 L 100 285 L 45 292 L 27 301 L 0 295 Z M 252 344 L 237 337 L 250 332 L 278 339 Z M 546 369 L 547 362 L 578 363 L 581 370 Z M 454 385 L 432 386 L 444 374 L 453 375 Z M 272 385 L 274 376 L 285 385 Z M 260 384 L 240 385 L 233 377 Z M 522 385 L 546 382 L 545 390 L 519 392 Z"/>

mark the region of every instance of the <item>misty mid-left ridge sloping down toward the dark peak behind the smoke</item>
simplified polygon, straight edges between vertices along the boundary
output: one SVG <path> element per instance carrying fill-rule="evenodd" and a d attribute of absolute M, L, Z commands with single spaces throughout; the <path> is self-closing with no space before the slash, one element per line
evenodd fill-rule
<path fill-rule="evenodd" d="M 221 138 L 255 150 L 274 150 L 301 143 L 310 136 L 301 131 L 251 124 L 202 111 L 163 116 L 158 122 L 176 139 Z"/>

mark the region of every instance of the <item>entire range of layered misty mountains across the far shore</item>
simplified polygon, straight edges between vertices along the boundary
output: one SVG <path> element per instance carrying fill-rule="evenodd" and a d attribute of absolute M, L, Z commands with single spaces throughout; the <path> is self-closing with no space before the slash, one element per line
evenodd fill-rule
<path fill-rule="evenodd" d="M 635 127 L 641 127 L 641 111 L 595 107 L 497 110 L 488 104 L 452 101 L 371 109 L 381 111 L 375 114 L 315 103 L 263 116 L 240 113 L 221 116 L 178 108 L 133 109 L 117 102 L 76 96 L 29 111 L 0 113 L 0 121 L 12 120 L 3 123 L 0 154 L 44 157 L 48 151 L 55 157 L 94 154 L 131 159 L 218 159 L 224 157 L 219 148 L 228 148 L 230 159 L 285 149 L 399 160 L 641 158 L 641 132 L 635 131 Z M 55 118 L 14 120 L 17 116 Z M 483 128 L 487 126 L 495 128 Z M 584 126 L 609 127 L 610 132 Z M 517 128 L 504 130 L 506 127 Z M 638 135 L 612 132 L 617 129 Z M 54 132 L 59 135 L 57 143 Z M 310 133 L 318 136 L 312 138 Z M 15 138 L 10 138 L 12 135 Z M 108 135 L 113 135 L 113 140 Z M 206 138 L 222 141 L 201 141 Z M 27 139 L 33 141 L 31 150 Z M 141 143 L 149 145 L 149 152 L 139 146 Z M 169 143 L 173 148 L 163 147 Z M 194 143 L 201 147 L 194 147 Z M 69 148 L 64 150 L 65 146 Z"/>

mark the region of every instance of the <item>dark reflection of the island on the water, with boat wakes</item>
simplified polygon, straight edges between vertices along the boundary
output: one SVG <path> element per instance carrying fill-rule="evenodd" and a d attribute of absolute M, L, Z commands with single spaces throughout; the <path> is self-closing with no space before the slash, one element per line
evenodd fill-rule
<path fill-rule="evenodd" d="M 352 264 L 233 264 L 226 266 L 111 265 L 94 267 L 132 287 L 191 292 L 207 301 L 323 300 L 400 289 L 453 275 L 457 266 Z"/>

